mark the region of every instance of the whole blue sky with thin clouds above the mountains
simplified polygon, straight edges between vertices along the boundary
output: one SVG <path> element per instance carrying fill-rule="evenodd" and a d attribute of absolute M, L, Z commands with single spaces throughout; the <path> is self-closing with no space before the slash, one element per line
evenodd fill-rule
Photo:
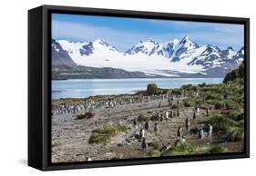
<path fill-rule="evenodd" d="M 238 51 L 243 46 L 242 24 L 216 24 L 169 20 L 151 20 L 92 15 L 52 15 L 52 38 L 72 41 L 102 39 L 119 51 L 127 51 L 139 41 L 159 43 L 185 35 L 197 44 L 229 46 Z"/>

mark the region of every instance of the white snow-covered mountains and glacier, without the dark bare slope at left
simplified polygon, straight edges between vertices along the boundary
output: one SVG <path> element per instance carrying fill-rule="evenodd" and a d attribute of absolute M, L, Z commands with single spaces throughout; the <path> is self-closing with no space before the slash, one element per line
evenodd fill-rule
<path fill-rule="evenodd" d="M 241 64 L 243 48 L 221 50 L 210 44 L 196 44 L 189 36 L 167 43 L 140 41 L 126 52 L 119 52 L 107 42 L 72 42 L 57 40 L 77 65 L 111 67 L 148 76 L 182 76 L 183 73 L 222 76 Z"/>

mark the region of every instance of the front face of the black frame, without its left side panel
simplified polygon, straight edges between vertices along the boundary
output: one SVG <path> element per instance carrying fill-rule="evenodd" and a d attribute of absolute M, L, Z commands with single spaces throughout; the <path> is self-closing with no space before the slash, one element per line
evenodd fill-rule
<path fill-rule="evenodd" d="M 113 167 L 113 166 L 128 166 L 141 164 L 157 164 L 169 162 L 183 162 L 183 161 L 210 161 L 210 160 L 226 160 L 250 158 L 250 19 L 240 17 L 226 17 L 226 16 L 211 16 L 211 15 L 183 15 L 183 14 L 169 14 L 159 12 L 141 12 L 115 9 L 99 9 L 87 7 L 70 7 L 70 6 L 56 6 L 43 5 L 43 37 L 42 37 L 42 66 L 43 66 L 43 114 L 42 114 L 42 171 L 55 171 L 67 169 L 83 169 L 83 168 L 98 168 L 98 167 Z M 244 152 L 211 154 L 211 155 L 192 155 L 192 156 L 178 156 L 172 158 L 150 158 L 150 159 L 129 159 L 117 161 L 92 161 L 92 162 L 67 162 L 67 163 L 51 163 L 51 121 L 50 121 L 50 93 L 51 93 L 51 58 L 50 58 L 50 34 L 51 21 L 50 14 L 52 12 L 60 13 L 78 13 L 78 14 L 96 14 L 96 15 L 113 15 L 113 16 L 132 16 L 152 18 L 157 16 L 161 18 L 173 18 L 177 20 L 187 21 L 204 21 L 213 23 L 230 23 L 230 24 L 244 24 L 244 47 L 245 47 L 245 138 L 244 138 Z"/>

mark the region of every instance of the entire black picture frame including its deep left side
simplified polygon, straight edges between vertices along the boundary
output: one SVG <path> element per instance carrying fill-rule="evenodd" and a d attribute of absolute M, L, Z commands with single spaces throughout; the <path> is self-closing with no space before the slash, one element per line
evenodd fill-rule
<path fill-rule="evenodd" d="M 107 15 L 179 21 L 244 24 L 244 152 L 111 161 L 51 163 L 51 14 Z M 28 11 L 28 165 L 42 171 L 250 157 L 250 19 L 210 15 L 42 5 Z"/>

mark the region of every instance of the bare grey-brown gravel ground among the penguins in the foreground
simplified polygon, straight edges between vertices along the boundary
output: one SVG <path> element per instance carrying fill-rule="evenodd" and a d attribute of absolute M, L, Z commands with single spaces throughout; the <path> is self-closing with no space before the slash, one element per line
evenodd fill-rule
<path fill-rule="evenodd" d="M 161 107 L 159 103 L 161 102 Z M 110 159 L 128 159 L 147 157 L 149 151 L 141 150 L 141 141 L 130 137 L 132 133 L 138 132 L 145 122 L 138 122 L 133 126 L 132 120 L 141 113 L 169 111 L 167 100 L 154 100 L 146 103 L 131 103 L 117 105 L 113 109 L 99 108 L 94 110 L 91 119 L 76 120 L 75 114 L 61 114 L 52 116 L 52 162 L 86 161 L 86 155 L 93 161 Z M 243 150 L 241 142 L 223 142 L 221 136 L 213 135 L 203 140 L 197 134 L 189 135 L 185 131 L 185 119 L 192 119 L 192 108 L 181 108 L 179 117 L 169 118 L 159 122 L 159 132 L 153 131 L 154 122 L 149 122 L 150 128 L 145 132 L 147 142 L 160 142 L 163 145 L 173 145 L 177 138 L 179 125 L 188 142 L 198 146 L 210 146 L 212 143 L 224 145 L 232 152 Z M 191 128 L 209 117 L 202 111 L 196 121 L 191 121 Z M 93 130 L 105 124 L 125 124 L 127 132 L 122 132 L 111 139 L 108 144 L 88 143 L 89 136 Z"/>

